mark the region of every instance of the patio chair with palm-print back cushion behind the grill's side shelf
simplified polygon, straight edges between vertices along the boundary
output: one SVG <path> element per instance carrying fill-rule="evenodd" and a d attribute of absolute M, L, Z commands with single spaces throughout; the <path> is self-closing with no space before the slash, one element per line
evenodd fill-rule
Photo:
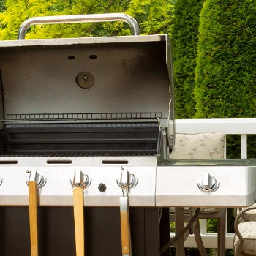
<path fill-rule="evenodd" d="M 224 146 L 225 146 L 225 133 L 224 132 L 206 132 L 206 133 L 178 133 L 176 134 L 175 149 L 170 154 L 170 159 L 223 159 L 224 158 Z M 171 212 L 174 212 L 174 208 L 170 208 Z M 184 213 L 188 213 L 191 216 L 190 209 L 184 208 Z M 177 212 L 177 209 L 176 209 Z M 217 236 L 218 236 L 218 255 L 225 256 L 225 221 L 226 221 L 226 208 L 201 208 L 198 219 L 218 219 L 217 222 Z M 190 230 L 190 233 L 195 234 L 195 240 L 197 247 L 200 251 L 200 255 L 207 256 L 206 250 L 203 246 L 203 241 L 200 236 L 199 221 L 194 227 L 194 230 Z M 178 227 L 181 227 L 181 223 L 178 223 Z M 178 233 L 178 230 L 176 230 Z M 187 235 L 188 236 L 188 235 Z M 184 240 L 186 240 L 184 236 Z M 184 244 L 184 243 L 183 243 Z M 178 248 L 177 248 L 178 247 Z M 183 248 L 182 248 L 183 247 Z M 179 253 L 182 255 L 184 251 L 184 245 L 181 243 L 176 246 Z"/>

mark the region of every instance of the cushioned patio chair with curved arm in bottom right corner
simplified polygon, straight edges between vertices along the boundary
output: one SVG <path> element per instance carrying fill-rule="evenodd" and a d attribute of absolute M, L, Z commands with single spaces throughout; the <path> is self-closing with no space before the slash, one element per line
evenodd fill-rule
<path fill-rule="evenodd" d="M 256 204 L 243 208 L 235 218 L 234 256 L 256 255 Z"/>

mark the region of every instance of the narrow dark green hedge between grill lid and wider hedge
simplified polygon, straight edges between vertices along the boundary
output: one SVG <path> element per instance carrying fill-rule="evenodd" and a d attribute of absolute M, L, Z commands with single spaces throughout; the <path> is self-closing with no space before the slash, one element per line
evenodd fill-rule
<path fill-rule="evenodd" d="M 171 29 L 175 78 L 176 118 L 195 115 L 195 58 L 199 14 L 203 0 L 177 0 Z"/>

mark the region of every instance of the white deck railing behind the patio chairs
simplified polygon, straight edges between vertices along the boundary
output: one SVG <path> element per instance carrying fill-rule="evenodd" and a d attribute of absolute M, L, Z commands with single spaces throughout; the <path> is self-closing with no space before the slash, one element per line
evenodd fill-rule
<path fill-rule="evenodd" d="M 247 135 L 256 134 L 256 118 L 234 119 L 178 119 L 176 133 L 225 132 L 241 135 L 241 158 L 247 158 Z M 226 156 L 226 148 L 225 148 Z M 207 233 L 206 219 L 201 219 L 201 236 L 206 248 L 217 248 L 217 234 Z M 226 248 L 233 248 L 234 234 L 226 233 Z M 189 236 L 186 247 L 197 247 L 194 236 Z"/>

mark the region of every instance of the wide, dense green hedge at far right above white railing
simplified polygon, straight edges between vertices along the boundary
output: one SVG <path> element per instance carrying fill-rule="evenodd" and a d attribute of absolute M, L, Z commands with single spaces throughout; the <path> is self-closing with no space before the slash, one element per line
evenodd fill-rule
<path fill-rule="evenodd" d="M 256 116 L 256 1 L 206 0 L 200 15 L 196 118 Z"/>

